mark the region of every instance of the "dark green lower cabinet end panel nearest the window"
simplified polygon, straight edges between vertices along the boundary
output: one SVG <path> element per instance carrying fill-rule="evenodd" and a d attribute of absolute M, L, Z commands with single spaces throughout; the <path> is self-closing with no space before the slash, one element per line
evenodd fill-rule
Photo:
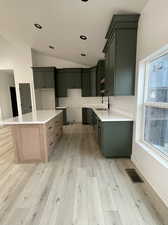
<path fill-rule="evenodd" d="M 107 158 L 131 157 L 133 122 L 99 122 L 98 140 Z"/>

